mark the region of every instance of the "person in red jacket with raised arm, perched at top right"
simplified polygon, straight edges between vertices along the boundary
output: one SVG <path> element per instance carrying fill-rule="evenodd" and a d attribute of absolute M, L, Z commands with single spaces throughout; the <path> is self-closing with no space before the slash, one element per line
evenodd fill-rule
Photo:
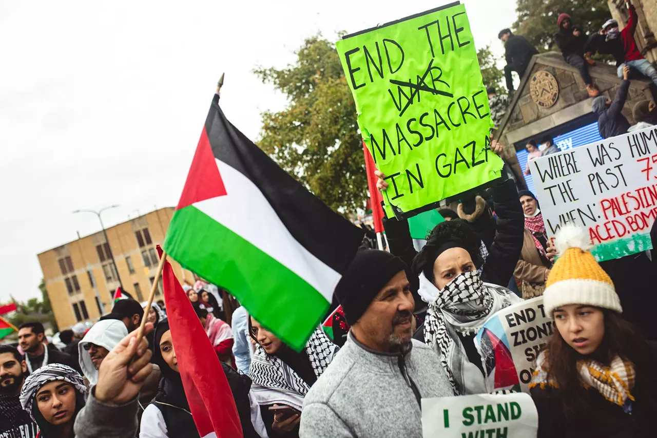
<path fill-rule="evenodd" d="M 634 5 L 629 3 L 629 21 L 623 30 L 618 30 L 618 22 L 613 18 L 602 25 L 599 35 L 591 38 L 591 48 L 602 54 L 613 55 L 618 68 L 618 77 L 623 77 L 623 66 L 629 66 L 630 78 L 639 72 L 648 76 L 657 85 L 657 70 L 650 62 L 641 55 L 634 40 L 634 32 L 637 30 L 637 11 Z M 634 74 L 633 74 L 634 73 Z"/>

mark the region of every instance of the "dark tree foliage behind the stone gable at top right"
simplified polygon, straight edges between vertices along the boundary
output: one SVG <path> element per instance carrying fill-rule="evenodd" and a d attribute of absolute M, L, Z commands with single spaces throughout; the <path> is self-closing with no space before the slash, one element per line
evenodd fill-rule
<path fill-rule="evenodd" d="M 516 12 L 515 33 L 529 39 L 539 52 L 558 51 L 552 47 L 553 36 L 558 30 L 556 18 L 563 12 L 589 35 L 611 18 L 607 0 L 518 0 Z"/>

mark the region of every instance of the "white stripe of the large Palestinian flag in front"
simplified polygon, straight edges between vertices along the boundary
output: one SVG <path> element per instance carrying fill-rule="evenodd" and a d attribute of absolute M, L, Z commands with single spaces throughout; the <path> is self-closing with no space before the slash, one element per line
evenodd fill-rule
<path fill-rule="evenodd" d="M 200 201 L 194 207 L 278 260 L 317 289 L 330 303 L 340 274 L 292 237 L 251 180 L 225 162 L 216 158 L 215 162 L 227 195 Z M 323 251 L 322 248 L 317 250 Z"/>

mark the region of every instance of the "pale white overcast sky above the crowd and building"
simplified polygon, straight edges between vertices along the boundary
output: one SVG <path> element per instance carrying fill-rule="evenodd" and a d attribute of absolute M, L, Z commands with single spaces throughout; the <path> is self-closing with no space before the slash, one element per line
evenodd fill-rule
<path fill-rule="evenodd" d="M 229 5 L 230 3 L 230 5 Z M 39 295 L 37 253 L 177 203 L 215 84 L 251 139 L 285 99 L 252 73 L 308 36 L 356 32 L 445 2 L 416 0 L 0 2 L 0 303 Z M 514 0 L 466 0 L 477 47 Z M 492 5 L 495 9 L 491 9 Z"/>

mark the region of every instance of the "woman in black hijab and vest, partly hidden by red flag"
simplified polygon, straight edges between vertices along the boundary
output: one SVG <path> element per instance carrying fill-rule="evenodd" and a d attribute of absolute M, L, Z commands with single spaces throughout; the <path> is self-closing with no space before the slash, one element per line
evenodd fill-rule
<path fill-rule="evenodd" d="M 187 402 L 183 379 L 180 377 L 169 321 L 160 321 L 154 332 L 156 349 L 153 350 L 153 362 L 160 367 L 162 379 L 160 380 L 160 392 L 147 406 L 141 417 L 139 438 L 199 437 Z M 260 435 L 256 433 L 252 423 L 248 395 L 250 379 L 237 374 L 223 362 L 222 367 L 233 392 L 244 438 L 259 437 Z"/>

